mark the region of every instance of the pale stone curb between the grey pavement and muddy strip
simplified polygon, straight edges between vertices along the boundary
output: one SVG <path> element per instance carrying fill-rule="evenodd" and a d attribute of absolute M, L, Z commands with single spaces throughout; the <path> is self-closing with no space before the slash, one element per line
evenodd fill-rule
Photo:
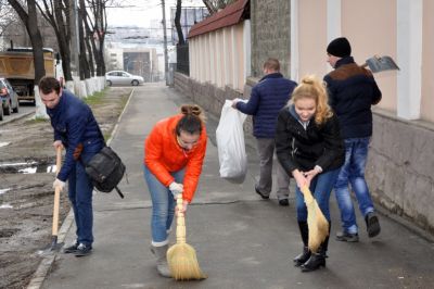
<path fill-rule="evenodd" d="M 122 116 L 124 115 L 126 109 L 128 108 L 128 104 L 130 102 L 130 99 L 131 99 L 133 92 L 135 92 L 135 89 L 131 90 L 131 93 L 128 97 L 128 101 L 125 104 L 124 110 L 122 111 L 119 117 L 117 118 L 117 122 L 112 130 L 111 137 L 107 140 L 107 144 L 112 141 L 113 136 L 116 134 L 118 123 L 120 122 Z M 31 113 L 35 113 L 35 112 L 31 112 Z M 24 116 L 22 116 L 22 117 L 24 117 Z M 17 120 L 17 118 L 14 118 L 14 120 Z M 11 122 L 14 120 L 11 120 Z M 69 231 L 69 228 L 72 227 L 73 222 L 74 222 L 74 212 L 71 209 L 68 214 L 66 215 L 65 219 L 62 223 L 61 229 L 59 230 L 59 235 L 58 235 L 59 243 L 65 241 L 66 235 Z M 54 251 L 51 254 L 47 254 L 42 257 L 41 262 L 39 263 L 38 268 L 34 273 L 29 284 L 26 287 L 27 289 L 40 289 L 42 287 L 42 284 L 46 280 L 48 273 L 50 272 L 52 265 L 54 264 L 54 261 L 58 257 L 58 253 L 59 252 Z"/>

